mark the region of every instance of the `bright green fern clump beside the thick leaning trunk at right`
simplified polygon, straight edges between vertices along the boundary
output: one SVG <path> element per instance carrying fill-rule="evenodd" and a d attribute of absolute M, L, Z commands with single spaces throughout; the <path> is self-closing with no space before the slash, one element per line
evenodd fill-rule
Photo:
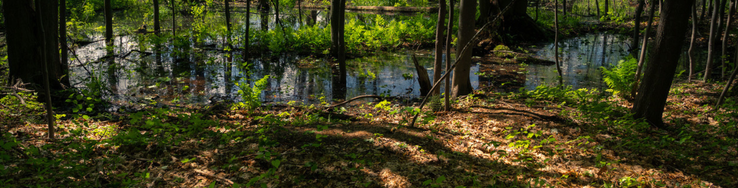
<path fill-rule="evenodd" d="M 602 67 L 602 80 L 610 88 L 605 91 L 618 95 L 618 97 L 630 97 L 635 81 L 635 69 L 638 69 L 638 60 L 632 57 L 620 60 L 618 66 L 613 69 Z"/>

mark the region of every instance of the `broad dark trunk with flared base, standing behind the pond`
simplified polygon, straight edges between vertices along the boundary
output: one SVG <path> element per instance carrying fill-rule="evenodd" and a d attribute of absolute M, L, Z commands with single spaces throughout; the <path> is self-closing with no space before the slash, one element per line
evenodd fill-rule
<path fill-rule="evenodd" d="M 513 2 L 513 0 L 495 0 L 492 1 L 492 10 L 490 18 L 494 18 L 500 12 Z M 500 27 L 497 27 L 498 34 L 511 34 L 512 38 L 503 38 L 505 43 L 514 41 L 541 41 L 547 39 L 546 32 L 541 29 L 536 21 L 526 12 L 528 9 L 528 0 L 514 1 L 510 10 L 503 15 Z M 488 19 L 489 20 L 489 19 Z"/>

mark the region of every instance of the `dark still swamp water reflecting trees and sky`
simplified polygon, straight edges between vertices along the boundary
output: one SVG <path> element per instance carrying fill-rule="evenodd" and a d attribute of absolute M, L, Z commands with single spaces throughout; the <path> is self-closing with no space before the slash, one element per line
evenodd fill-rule
<path fill-rule="evenodd" d="M 234 13 L 234 20 L 244 17 Z M 293 18 L 292 22 L 290 22 Z M 317 22 L 325 24 L 325 14 L 319 14 Z M 428 18 L 432 19 L 432 18 Z M 272 19 L 273 20 L 273 16 Z M 287 24 L 297 27 L 294 16 L 283 18 Z M 162 21 L 163 24 L 168 21 Z M 261 23 L 258 16 L 249 21 L 252 28 Z M 241 23 L 234 23 L 239 25 Z M 184 24 L 187 25 L 187 24 Z M 274 22 L 269 22 L 273 27 Z M 182 26 L 179 26 L 182 27 Z M 162 28 L 167 28 L 162 25 Z M 149 34 L 151 35 L 151 34 Z M 100 38 L 97 36 L 96 38 Z M 360 58 L 347 60 L 347 91 L 345 96 L 337 99 L 332 93 L 334 87 L 330 64 L 325 58 L 313 58 L 300 55 L 263 55 L 249 60 L 249 65 L 240 63 L 239 51 L 229 53 L 223 50 L 218 36 L 204 41 L 195 41 L 192 37 L 179 39 L 190 43 L 187 46 L 176 46 L 168 41 L 162 43 L 160 53 L 154 52 L 152 40 L 141 34 L 125 35 L 115 38 L 113 55 L 116 58 L 104 60 L 108 51 L 103 41 L 97 41 L 77 48 L 72 61 L 72 83 L 77 87 L 94 87 L 91 80 L 106 89 L 110 100 L 125 102 L 144 102 L 159 100 L 164 103 L 207 103 L 213 98 L 240 100 L 236 82 L 252 84 L 269 75 L 268 83 L 261 94 L 265 102 L 298 101 L 318 103 L 330 100 L 342 100 L 365 94 L 384 94 L 395 97 L 417 97 L 419 86 L 412 56 L 418 63 L 433 74 L 432 52 L 404 51 L 377 52 Z M 194 45 L 193 43 L 199 43 Z M 630 38 L 624 35 L 595 33 L 568 38 L 560 42 L 562 70 L 565 85 L 573 88 L 597 88 L 604 90 L 601 78 L 601 67 L 612 67 L 619 60 L 627 57 Z M 538 58 L 553 60 L 553 43 L 541 43 L 528 50 Z M 684 49 L 686 51 L 686 49 Z M 686 52 L 683 53 L 686 57 Z M 698 53 L 698 60 L 704 59 Z M 680 69 L 686 67 L 682 58 Z M 504 86 L 499 80 L 490 79 L 480 72 L 480 60 L 474 58 L 470 79 L 472 86 Z M 699 66 L 697 66 L 699 67 Z M 525 68 L 525 69 L 520 69 Z M 510 68 L 508 68 L 510 69 Z M 500 87 L 498 91 L 517 91 L 518 88 L 533 89 L 540 85 L 557 83 L 556 66 L 528 65 L 513 66 L 518 80 Z M 480 74 L 483 73 L 483 74 Z M 483 75 L 483 76 L 477 76 Z M 431 78 L 432 79 L 432 78 Z M 442 88 L 441 88 L 442 89 Z M 443 92 L 443 91 L 442 91 Z M 218 100 L 221 100 L 218 99 Z"/>

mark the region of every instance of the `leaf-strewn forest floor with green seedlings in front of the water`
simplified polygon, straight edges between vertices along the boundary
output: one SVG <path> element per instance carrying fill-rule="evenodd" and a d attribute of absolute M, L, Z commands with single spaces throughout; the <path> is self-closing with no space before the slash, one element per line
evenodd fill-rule
<path fill-rule="evenodd" d="M 63 120 L 62 139 L 8 124 L 0 187 L 738 187 L 736 108 L 709 111 L 719 89 L 675 84 L 666 130 L 558 88 L 477 91 L 413 127 L 393 101 L 139 108 Z"/>

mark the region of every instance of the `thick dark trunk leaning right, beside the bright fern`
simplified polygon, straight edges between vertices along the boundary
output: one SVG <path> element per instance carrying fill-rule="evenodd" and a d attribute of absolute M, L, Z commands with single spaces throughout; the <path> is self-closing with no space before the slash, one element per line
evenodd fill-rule
<path fill-rule="evenodd" d="M 644 79 L 638 88 L 638 96 L 633 102 L 632 113 L 635 118 L 645 118 L 646 122 L 663 128 L 663 107 L 672 86 L 677 69 L 679 52 L 685 39 L 689 8 L 694 0 L 663 1 L 661 21 L 655 38 L 654 49 L 649 55 Z"/>

